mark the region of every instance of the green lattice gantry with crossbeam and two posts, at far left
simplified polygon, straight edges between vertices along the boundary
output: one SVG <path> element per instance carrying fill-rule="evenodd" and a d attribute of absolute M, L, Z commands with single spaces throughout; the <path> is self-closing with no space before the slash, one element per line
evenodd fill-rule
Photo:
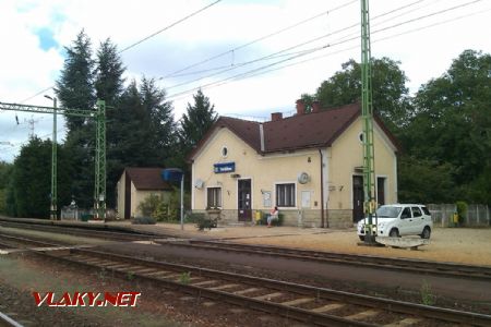
<path fill-rule="evenodd" d="M 96 186 L 94 192 L 94 207 L 96 208 L 96 215 L 100 219 L 106 218 L 106 102 L 97 100 L 97 111 L 82 110 L 82 109 L 68 109 L 57 108 L 56 102 L 53 107 L 20 105 L 20 104 L 5 104 L 0 102 L 0 110 L 10 111 L 25 111 L 37 113 L 53 113 L 53 147 L 52 147 L 52 165 L 51 165 L 51 201 L 50 209 L 57 209 L 57 148 L 56 148 L 56 116 L 67 114 L 74 117 L 84 117 L 95 119 L 96 126 L 96 152 L 95 152 L 95 175 Z"/>

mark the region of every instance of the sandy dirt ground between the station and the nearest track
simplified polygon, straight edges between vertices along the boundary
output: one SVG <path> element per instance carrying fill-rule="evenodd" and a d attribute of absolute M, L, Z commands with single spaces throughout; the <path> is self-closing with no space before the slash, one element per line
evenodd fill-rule
<path fill-rule="evenodd" d="M 161 231 L 163 233 L 166 231 L 180 232 L 180 226 L 175 223 L 158 223 L 157 226 L 133 225 L 131 227 L 154 232 Z M 185 225 L 183 233 L 188 237 L 226 239 L 249 244 L 267 244 L 338 253 L 409 257 L 491 266 L 491 228 L 434 228 L 430 244 L 420 246 L 418 251 L 359 246 L 359 239 L 355 228 L 334 230 L 296 227 L 266 228 L 265 226 L 232 226 L 197 231 L 194 225 Z"/>

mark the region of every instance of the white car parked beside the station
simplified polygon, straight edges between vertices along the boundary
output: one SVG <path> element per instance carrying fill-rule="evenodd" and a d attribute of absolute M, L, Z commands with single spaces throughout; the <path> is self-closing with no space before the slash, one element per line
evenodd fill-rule
<path fill-rule="evenodd" d="M 364 241 L 368 218 L 358 221 L 358 237 Z M 376 225 L 376 227 L 375 227 Z M 433 221 L 428 208 L 419 204 L 383 205 L 372 217 L 372 233 L 378 237 L 399 238 L 420 235 L 430 239 Z"/>

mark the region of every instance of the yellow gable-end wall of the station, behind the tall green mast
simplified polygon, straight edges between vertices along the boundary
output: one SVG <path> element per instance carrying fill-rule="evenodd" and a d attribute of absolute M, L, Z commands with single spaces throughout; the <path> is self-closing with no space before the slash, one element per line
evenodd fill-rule
<path fill-rule="evenodd" d="M 328 209 L 352 209 L 352 177 L 355 167 L 362 167 L 363 144 L 360 141 L 362 121 L 355 121 L 327 150 Z M 385 178 L 385 203 L 397 202 L 397 158 L 388 140 L 374 123 L 375 177 Z M 376 183 L 376 181 L 375 181 Z"/>

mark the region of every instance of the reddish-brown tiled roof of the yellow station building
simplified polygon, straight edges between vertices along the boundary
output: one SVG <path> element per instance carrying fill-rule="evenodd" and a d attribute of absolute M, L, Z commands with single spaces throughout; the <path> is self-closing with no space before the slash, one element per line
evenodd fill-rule
<path fill-rule="evenodd" d="M 274 153 L 301 148 L 331 146 L 333 142 L 361 114 L 360 104 L 321 110 L 320 112 L 297 114 L 263 123 L 264 150 L 261 150 L 260 123 L 220 117 L 211 131 L 200 141 L 189 155 L 192 159 L 213 133 L 227 128 L 249 144 L 258 153 Z M 398 148 L 397 141 L 375 117 L 375 121 Z"/>

